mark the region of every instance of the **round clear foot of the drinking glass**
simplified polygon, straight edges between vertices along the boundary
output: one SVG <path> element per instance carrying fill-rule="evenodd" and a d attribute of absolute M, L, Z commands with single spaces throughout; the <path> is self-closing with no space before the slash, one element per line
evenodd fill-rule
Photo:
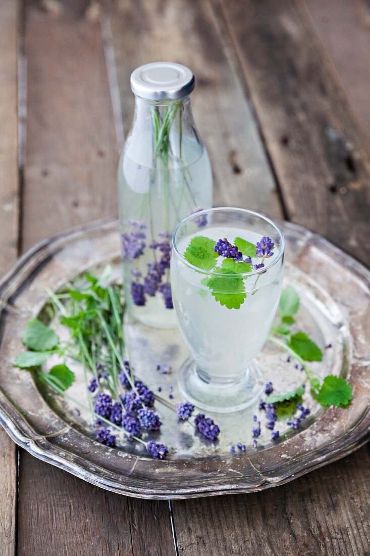
<path fill-rule="evenodd" d="M 264 390 L 261 367 L 252 361 L 245 378 L 238 383 L 214 384 L 199 376 L 194 361 L 189 358 L 178 373 L 178 386 L 184 399 L 212 413 L 234 413 L 254 404 Z"/>

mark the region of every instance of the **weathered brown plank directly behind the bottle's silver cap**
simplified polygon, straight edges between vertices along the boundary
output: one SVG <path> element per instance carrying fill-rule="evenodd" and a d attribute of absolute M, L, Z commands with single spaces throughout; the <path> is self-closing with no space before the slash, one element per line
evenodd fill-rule
<path fill-rule="evenodd" d="M 213 166 L 214 205 L 281 215 L 251 107 L 228 58 L 222 22 L 220 27 L 208 0 L 118 0 L 111 16 L 126 132 L 134 104 L 132 70 L 158 60 L 189 66 L 196 76 L 194 120 Z"/>

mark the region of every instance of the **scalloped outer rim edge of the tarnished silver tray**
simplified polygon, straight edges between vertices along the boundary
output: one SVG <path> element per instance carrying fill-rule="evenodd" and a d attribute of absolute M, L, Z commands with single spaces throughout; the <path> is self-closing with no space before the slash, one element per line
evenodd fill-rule
<path fill-rule="evenodd" d="M 332 254 L 333 252 L 334 254 L 337 252 L 343 255 L 343 251 L 339 250 L 336 246 L 331 244 L 331 242 L 327 241 L 322 236 L 313 234 L 306 228 L 298 226 L 296 224 L 292 224 L 291 222 L 283 222 L 283 225 L 285 227 L 288 227 L 292 231 L 296 230 L 301 234 L 306 234 L 307 241 L 319 239 L 321 244 L 326 245 L 326 247 L 329 251 L 331 251 Z M 7 301 L 9 297 L 11 297 L 11 292 L 10 295 L 8 295 L 7 297 L 2 297 L 2 292 L 7 291 L 7 285 L 11 284 L 12 278 L 14 276 L 23 274 L 22 270 L 27 270 L 29 260 L 34 259 L 38 252 L 42 252 L 42 257 L 40 260 L 45 260 L 48 254 L 56 251 L 58 242 L 61 242 L 63 239 L 68 239 L 69 241 L 73 241 L 74 239 L 78 240 L 79 237 L 86 236 L 89 234 L 89 232 L 96 233 L 98 228 L 102 230 L 106 229 L 109 231 L 110 229 L 115 229 L 116 227 L 116 217 L 108 217 L 106 219 L 89 222 L 88 224 L 74 226 L 71 229 L 64 230 L 41 242 L 38 242 L 38 244 L 29 249 L 0 280 L 0 311 L 2 311 L 3 308 L 8 305 Z M 44 248 L 46 248 L 46 250 Z M 347 254 L 345 255 L 346 259 L 348 260 L 348 264 L 346 265 L 347 269 L 349 267 L 349 270 L 354 275 L 356 275 L 357 277 L 361 277 L 361 279 L 370 283 L 370 271 L 353 257 Z M 34 262 L 36 268 L 38 266 L 38 261 Z M 16 421 L 14 416 L 12 416 L 12 411 L 17 412 L 17 418 L 23 423 L 24 426 L 26 426 L 27 429 L 29 429 L 30 435 L 27 435 L 22 431 L 21 426 Z M 271 476 L 264 474 L 263 471 L 255 468 L 256 474 L 254 474 L 254 476 L 259 477 L 260 479 L 259 483 L 257 484 L 255 483 L 248 485 L 245 482 L 243 483 L 243 481 L 241 481 L 240 483 L 237 482 L 233 485 L 219 483 L 214 486 L 212 484 L 198 484 L 196 488 L 194 488 L 194 486 L 190 486 L 189 488 L 177 488 L 177 492 L 173 492 L 172 489 L 168 489 L 167 487 L 153 488 L 152 486 L 152 488 L 142 488 L 140 486 L 131 486 L 124 485 L 122 483 L 116 483 L 114 480 L 108 479 L 107 477 L 102 477 L 96 471 L 91 471 L 84 468 L 81 462 L 76 463 L 76 461 L 73 461 L 73 459 L 81 460 L 82 458 L 80 456 L 76 457 L 76 455 L 73 454 L 71 461 L 69 461 L 65 457 L 59 456 L 58 454 L 54 453 L 57 451 L 56 446 L 49 443 L 45 436 L 39 436 L 36 434 L 36 431 L 34 431 L 27 424 L 27 421 L 23 418 L 22 414 L 19 413 L 19 411 L 14 408 L 14 406 L 12 407 L 11 401 L 7 398 L 7 396 L 4 395 L 2 392 L 0 396 L 0 424 L 7 431 L 8 435 L 11 436 L 12 440 L 14 440 L 22 448 L 29 451 L 29 453 L 36 456 L 38 459 L 46 461 L 47 463 L 51 463 L 52 465 L 66 470 L 81 479 L 87 480 L 89 483 L 100 486 L 101 488 L 132 497 L 149 499 L 184 499 L 207 497 L 211 495 L 221 494 L 258 492 L 266 488 L 271 488 L 272 486 L 278 486 L 280 484 L 288 483 L 289 481 L 294 480 L 295 478 L 302 476 L 309 471 L 318 469 L 323 465 L 341 459 L 342 457 L 352 453 L 356 449 L 360 448 L 363 444 L 365 444 L 370 439 L 370 426 L 369 423 L 366 424 L 366 421 L 368 420 L 367 418 L 369 418 L 369 416 L 370 411 L 368 405 L 367 410 L 364 411 L 364 414 L 362 415 L 362 418 L 358 421 L 358 423 L 351 431 L 351 436 L 353 437 L 351 443 L 346 444 L 346 441 L 344 440 L 344 445 L 342 445 L 343 437 L 346 436 L 346 433 L 342 434 L 338 439 L 336 439 L 336 442 L 340 443 L 338 449 L 327 450 L 328 444 L 325 444 L 319 449 L 316 448 L 316 451 L 325 449 L 325 453 L 316 456 L 316 459 L 313 460 L 311 465 L 305 465 L 301 470 L 296 470 L 289 476 L 280 476 L 273 479 Z M 63 450 L 64 452 L 68 452 L 68 450 L 66 449 Z M 314 452 L 315 450 L 312 451 Z M 299 460 L 299 456 L 297 457 L 297 460 Z M 298 462 L 294 461 L 294 465 L 297 465 L 297 463 Z M 94 466 L 96 468 L 98 467 L 97 465 Z M 248 480 L 248 477 L 244 476 L 241 479 L 245 481 Z M 249 476 L 249 479 L 251 479 L 251 476 Z"/>

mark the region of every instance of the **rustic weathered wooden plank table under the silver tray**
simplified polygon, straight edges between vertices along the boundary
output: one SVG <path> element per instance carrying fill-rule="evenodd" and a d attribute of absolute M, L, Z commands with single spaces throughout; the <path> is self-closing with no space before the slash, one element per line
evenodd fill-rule
<path fill-rule="evenodd" d="M 197 78 L 214 204 L 283 216 L 369 264 L 369 52 L 369 0 L 2 0 L 1 271 L 116 212 L 129 75 L 167 59 Z M 168 503 L 0 443 L 3 556 L 370 551 L 366 447 L 259 494 Z"/>

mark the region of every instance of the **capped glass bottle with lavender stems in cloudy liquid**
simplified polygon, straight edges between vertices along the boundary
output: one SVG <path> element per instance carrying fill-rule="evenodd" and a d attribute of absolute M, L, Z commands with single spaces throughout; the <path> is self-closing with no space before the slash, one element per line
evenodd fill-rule
<path fill-rule="evenodd" d="M 187 67 L 146 64 L 132 73 L 131 88 L 135 112 L 118 166 L 126 303 L 143 324 L 167 328 L 176 325 L 171 236 L 184 217 L 212 206 L 211 165 L 193 122 Z"/>

